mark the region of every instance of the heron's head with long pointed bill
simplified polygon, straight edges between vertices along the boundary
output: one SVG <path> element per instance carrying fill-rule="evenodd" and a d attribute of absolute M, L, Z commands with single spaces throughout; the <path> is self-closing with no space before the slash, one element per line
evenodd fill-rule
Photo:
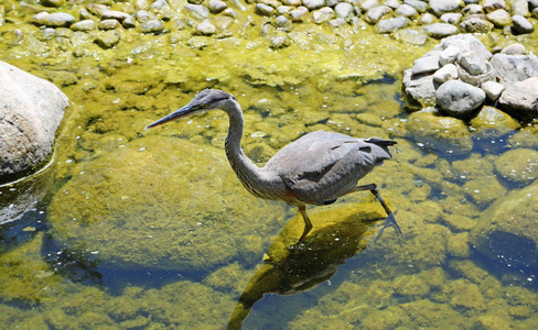
<path fill-rule="evenodd" d="M 213 109 L 223 109 L 225 110 L 230 101 L 237 102 L 235 97 L 226 91 L 219 89 L 204 89 L 198 92 L 194 99 L 192 99 L 189 105 L 184 106 L 183 108 L 165 116 L 154 123 L 149 124 L 147 129 L 151 129 L 158 125 L 161 125 L 165 122 L 172 121 L 174 119 L 180 119 L 183 117 L 187 117 L 194 113 L 202 113 Z"/>

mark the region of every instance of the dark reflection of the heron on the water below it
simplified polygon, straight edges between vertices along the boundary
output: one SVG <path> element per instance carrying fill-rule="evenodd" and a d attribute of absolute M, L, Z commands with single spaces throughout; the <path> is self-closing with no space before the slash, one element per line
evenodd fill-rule
<path fill-rule="evenodd" d="M 297 239 L 301 218 L 288 222 L 240 295 L 228 329 L 241 329 L 250 309 L 265 294 L 295 295 L 331 278 L 340 265 L 366 248 L 365 239 L 375 233 L 369 229 L 384 219 L 376 211 L 377 206 L 362 204 L 358 209 L 355 206 L 321 212 L 300 244 Z"/>

